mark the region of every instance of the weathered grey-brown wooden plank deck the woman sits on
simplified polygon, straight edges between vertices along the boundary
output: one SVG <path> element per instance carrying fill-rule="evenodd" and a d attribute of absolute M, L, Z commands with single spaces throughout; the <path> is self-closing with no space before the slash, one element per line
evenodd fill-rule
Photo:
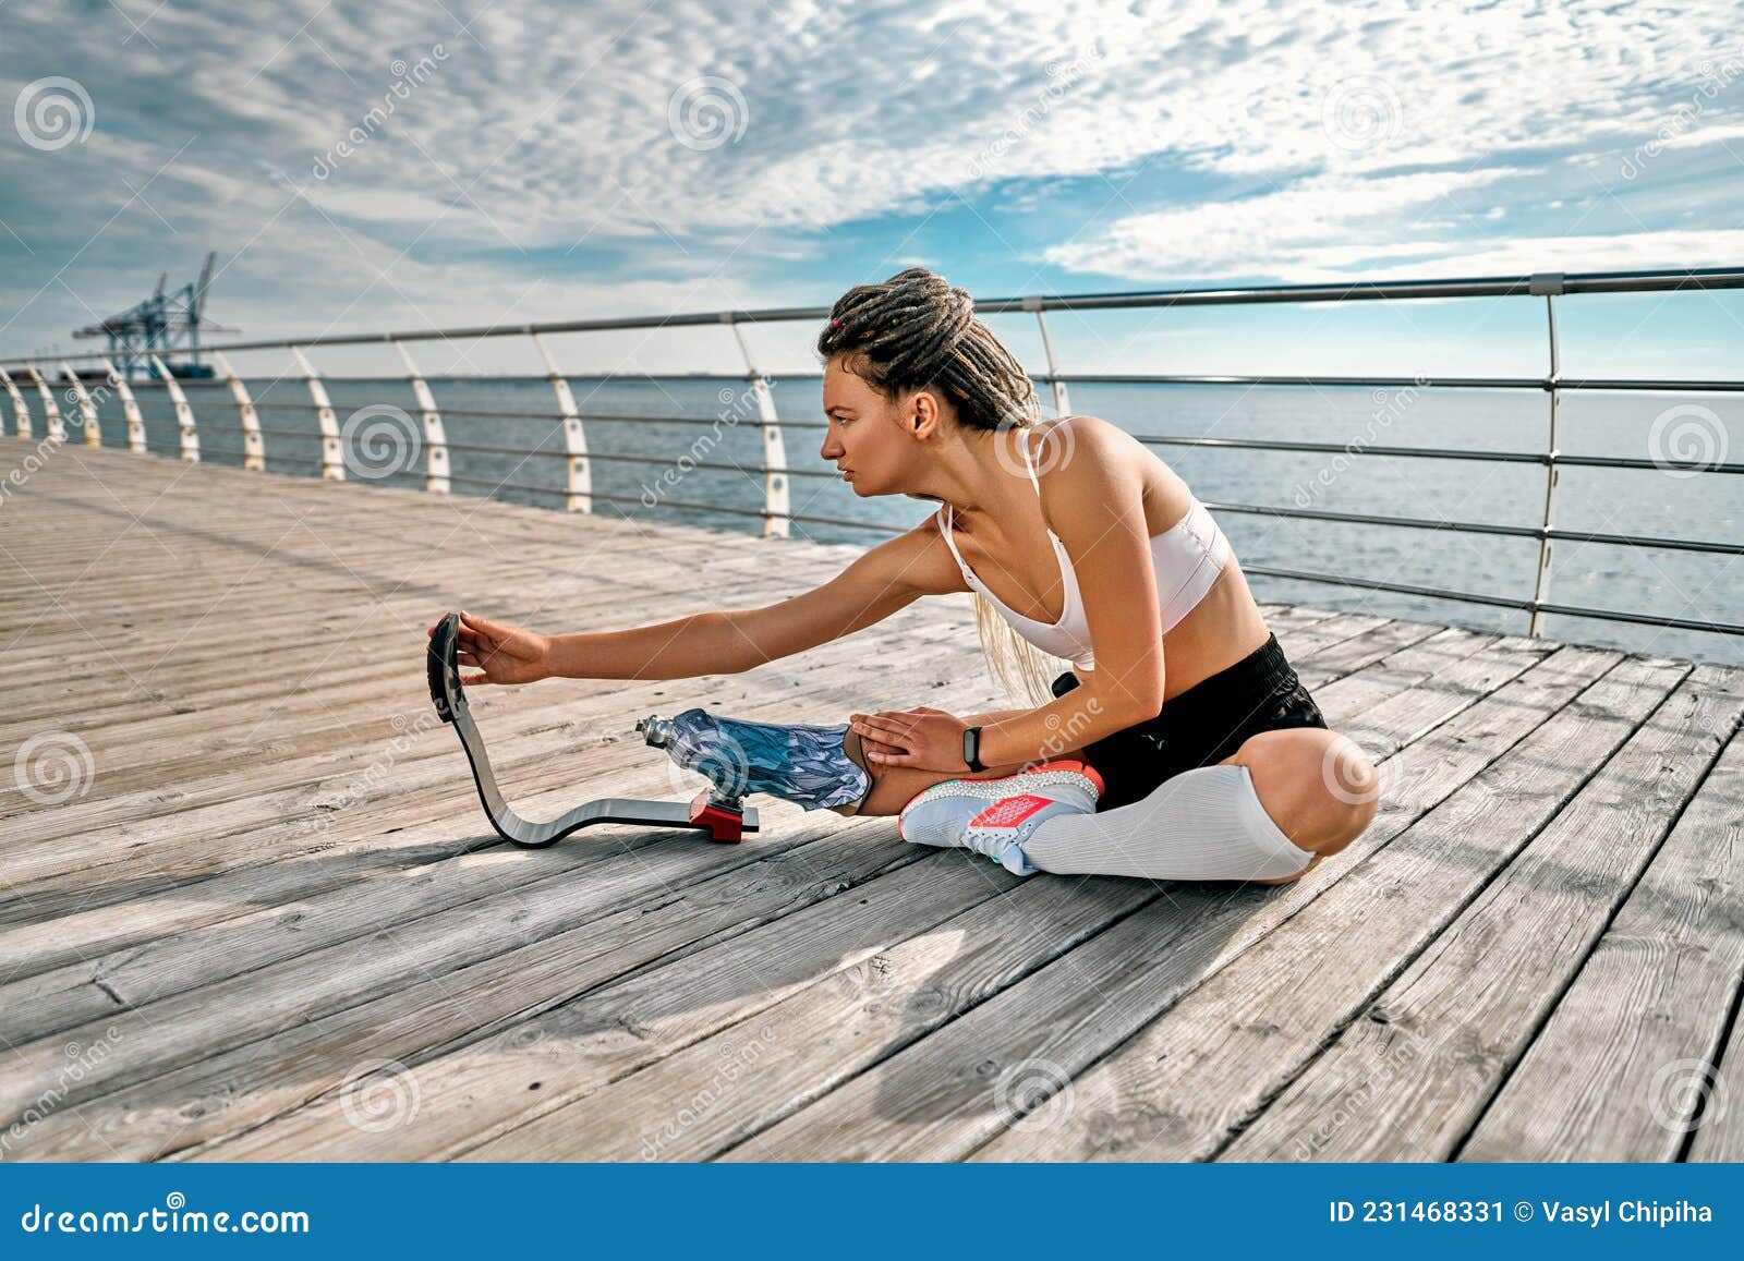
<path fill-rule="evenodd" d="M 1268 605 L 1385 757 L 1280 888 L 769 799 L 741 846 L 490 832 L 436 614 L 624 626 L 856 551 L 56 452 L 0 506 L 0 1158 L 1744 1160 L 1744 670 Z M 637 717 L 999 703 L 966 600 L 473 705 L 530 816 L 678 797 Z"/>

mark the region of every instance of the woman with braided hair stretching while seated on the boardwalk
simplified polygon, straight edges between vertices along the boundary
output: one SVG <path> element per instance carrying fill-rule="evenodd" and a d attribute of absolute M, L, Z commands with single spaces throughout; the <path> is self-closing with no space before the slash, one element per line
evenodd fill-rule
<path fill-rule="evenodd" d="M 1374 766 L 1325 729 L 1217 523 L 1149 448 L 1095 417 L 1041 424 L 971 297 L 926 269 L 842 295 L 818 354 L 820 455 L 856 495 L 938 513 L 764 609 L 555 637 L 466 614 L 462 684 L 732 673 L 975 591 L 989 656 L 1034 703 L 792 727 L 844 785 L 807 806 L 900 815 L 903 837 L 1018 874 L 1277 884 L 1362 834 Z M 1045 703 L 1038 649 L 1074 663 Z"/>

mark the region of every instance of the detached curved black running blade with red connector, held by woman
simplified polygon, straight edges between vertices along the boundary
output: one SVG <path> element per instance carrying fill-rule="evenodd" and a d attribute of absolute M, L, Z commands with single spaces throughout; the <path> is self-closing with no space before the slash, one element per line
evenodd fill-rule
<path fill-rule="evenodd" d="M 466 750 L 466 760 L 473 766 L 473 781 L 478 785 L 480 801 L 485 802 L 485 815 L 504 841 L 537 849 L 555 844 L 589 823 L 691 827 L 708 832 L 710 841 L 738 841 L 745 832 L 757 830 L 757 811 L 739 804 L 743 794 L 727 795 L 719 788 L 705 788 L 689 802 L 600 797 L 548 823 L 535 823 L 516 815 L 497 788 L 497 778 L 490 771 L 490 757 L 485 753 L 485 738 L 478 733 L 478 724 L 473 722 L 473 713 L 466 705 L 460 668 L 455 661 L 459 628 L 460 616 L 448 614 L 431 638 L 424 663 L 431 703 L 441 720 L 452 722 L 459 733 L 460 748 Z M 637 729 L 640 731 L 640 724 Z"/>

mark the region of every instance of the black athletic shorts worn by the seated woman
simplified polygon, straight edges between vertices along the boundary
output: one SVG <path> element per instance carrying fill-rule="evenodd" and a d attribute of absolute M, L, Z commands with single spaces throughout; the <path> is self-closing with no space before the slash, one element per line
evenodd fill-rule
<path fill-rule="evenodd" d="M 1053 680 L 1053 694 L 1078 687 L 1071 670 Z M 1226 670 L 1163 701 L 1162 712 L 1113 736 L 1085 745 L 1085 760 L 1102 776 L 1097 811 L 1130 806 L 1182 771 L 1216 766 L 1259 731 L 1324 727 L 1320 706 L 1284 656 L 1278 637 Z"/>

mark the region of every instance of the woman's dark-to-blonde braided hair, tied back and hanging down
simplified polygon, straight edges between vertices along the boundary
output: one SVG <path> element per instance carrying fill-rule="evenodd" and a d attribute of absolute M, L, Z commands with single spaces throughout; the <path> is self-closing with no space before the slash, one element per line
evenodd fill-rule
<path fill-rule="evenodd" d="M 950 399 L 970 429 L 1027 429 L 1041 420 L 1029 373 L 975 317 L 975 298 L 924 267 L 896 272 L 882 284 L 858 284 L 835 300 L 818 335 L 825 361 L 842 366 L 879 394 L 933 389 Z M 914 495 L 931 499 L 931 495 Z M 1022 638 L 975 593 L 975 631 L 999 685 L 1020 705 L 1053 699 L 1059 661 Z"/>

